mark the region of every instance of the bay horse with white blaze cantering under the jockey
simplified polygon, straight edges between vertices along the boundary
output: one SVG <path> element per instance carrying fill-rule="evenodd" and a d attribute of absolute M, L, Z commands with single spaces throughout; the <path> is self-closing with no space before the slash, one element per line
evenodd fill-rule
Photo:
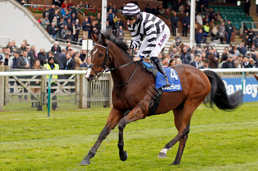
<path fill-rule="evenodd" d="M 112 90 L 113 107 L 97 141 L 87 156 L 80 162 L 80 165 L 90 164 L 90 159 L 95 156 L 101 142 L 116 125 L 119 129 L 117 145 L 119 157 L 120 160 L 125 161 L 128 154 L 123 149 L 123 129 L 129 122 L 150 116 L 152 108 L 150 102 L 155 98 L 154 95 L 151 96 L 152 87 L 155 84 L 154 76 L 144 69 L 139 61 L 134 62 L 131 56 L 126 53 L 129 50 L 127 43 L 117 40 L 107 31 L 97 36 L 92 34 L 92 39 L 96 44 L 91 51 L 91 64 L 85 78 L 89 82 L 97 82 L 101 73 L 104 73 L 105 69 L 109 67 L 114 82 Z M 162 92 L 158 108 L 153 114 L 164 114 L 171 110 L 174 113 L 174 123 L 178 134 L 158 154 L 158 158 L 166 157 L 166 152 L 179 141 L 178 152 L 172 165 L 180 164 L 190 131 L 191 117 L 207 96 L 208 100 L 204 101 L 205 104 L 212 108 L 217 106 L 224 111 L 231 111 L 240 107 L 243 98 L 241 91 L 236 91 L 228 96 L 223 81 L 213 71 L 202 72 L 200 69 L 186 64 L 172 66 L 175 70 L 178 67 L 182 70 L 182 72 L 177 71 L 182 90 Z M 158 90 L 155 89 L 155 91 Z M 149 100 L 144 99 L 145 97 L 149 97 Z"/>

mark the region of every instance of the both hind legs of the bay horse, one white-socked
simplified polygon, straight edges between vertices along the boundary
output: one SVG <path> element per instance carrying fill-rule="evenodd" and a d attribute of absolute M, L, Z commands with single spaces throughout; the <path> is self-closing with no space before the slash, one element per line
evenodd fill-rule
<path fill-rule="evenodd" d="M 166 157 L 166 152 L 179 141 L 178 152 L 173 164 L 180 163 L 186 140 L 188 138 L 188 133 L 190 131 L 190 120 L 194 110 L 195 107 L 187 106 L 186 103 L 184 106 L 181 104 L 179 107 L 173 110 L 174 122 L 176 128 L 178 129 L 178 134 L 159 152 L 158 158 Z"/>

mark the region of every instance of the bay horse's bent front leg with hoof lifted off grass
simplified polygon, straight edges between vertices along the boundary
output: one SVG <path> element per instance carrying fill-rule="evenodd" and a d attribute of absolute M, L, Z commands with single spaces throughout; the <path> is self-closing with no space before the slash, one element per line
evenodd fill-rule
<path fill-rule="evenodd" d="M 124 146 L 123 130 L 124 130 L 124 127 L 129 122 L 134 122 L 134 121 L 137 121 L 139 119 L 144 119 L 146 117 L 146 114 L 147 114 L 147 110 L 142 111 L 139 107 L 135 107 L 133 111 L 129 112 L 127 115 L 125 115 L 124 118 L 120 119 L 120 121 L 118 123 L 119 136 L 118 136 L 118 144 L 117 144 L 117 146 L 119 148 L 120 160 L 125 161 L 128 157 L 127 152 L 123 150 L 123 146 Z"/>

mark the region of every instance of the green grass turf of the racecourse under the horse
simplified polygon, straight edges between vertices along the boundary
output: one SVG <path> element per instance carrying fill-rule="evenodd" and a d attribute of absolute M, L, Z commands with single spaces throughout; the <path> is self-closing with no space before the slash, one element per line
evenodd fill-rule
<path fill-rule="evenodd" d="M 16 107 L 19 104 L 16 105 Z M 104 127 L 111 108 L 0 113 L 0 170 L 76 170 Z M 72 107 L 74 105 L 71 105 Z M 119 160 L 118 138 L 95 156 L 84 170 L 258 170 L 257 102 L 244 103 L 233 112 L 205 108 L 194 112 L 180 165 L 174 161 L 178 143 L 158 159 L 159 151 L 177 134 L 173 112 L 129 123 L 124 130 L 124 149 L 129 157 Z M 46 108 L 44 108 L 46 110 Z M 61 110 L 62 109 L 62 110 Z M 77 167 L 78 170 L 80 170 Z"/>

